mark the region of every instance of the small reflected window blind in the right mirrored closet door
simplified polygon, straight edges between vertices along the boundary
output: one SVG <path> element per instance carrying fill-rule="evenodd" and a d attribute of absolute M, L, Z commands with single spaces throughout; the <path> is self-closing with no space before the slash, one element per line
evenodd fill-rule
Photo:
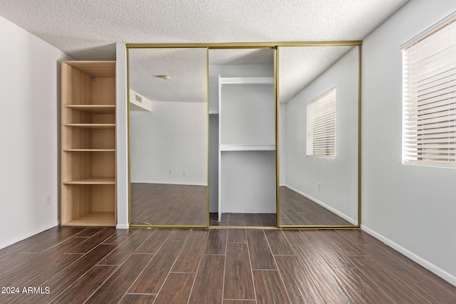
<path fill-rule="evenodd" d="M 334 157 L 336 143 L 336 88 L 307 105 L 307 156 Z"/>

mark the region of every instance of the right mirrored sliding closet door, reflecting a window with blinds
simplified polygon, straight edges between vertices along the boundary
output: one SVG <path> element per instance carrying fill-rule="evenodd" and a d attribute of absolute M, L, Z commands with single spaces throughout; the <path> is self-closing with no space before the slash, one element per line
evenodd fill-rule
<path fill-rule="evenodd" d="M 358 45 L 279 46 L 279 225 L 359 221 Z"/>

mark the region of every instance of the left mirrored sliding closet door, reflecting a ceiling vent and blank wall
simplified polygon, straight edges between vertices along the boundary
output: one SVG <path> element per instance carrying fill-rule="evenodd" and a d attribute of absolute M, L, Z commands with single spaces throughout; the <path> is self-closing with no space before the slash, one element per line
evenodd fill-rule
<path fill-rule="evenodd" d="M 128 48 L 131 226 L 207 226 L 207 48 Z"/>

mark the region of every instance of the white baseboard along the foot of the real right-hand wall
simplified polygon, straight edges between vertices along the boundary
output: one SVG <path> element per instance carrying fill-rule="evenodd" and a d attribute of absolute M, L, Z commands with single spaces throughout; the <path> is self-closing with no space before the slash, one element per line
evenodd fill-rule
<path fill-rule="evenodd" d="M 386 245 L 393 248 L 395 251 L 402 253 L 404 256 L 410 258 L 410 260 L 415 261 L 424 268 L 428 269 L 430 272 L 435 273 L 437 276 L 440 276 L 440 278 L 456 286 L 456 276 L 452 276 L 450 273 L 447 273 L 447 271 L 444 271 L 442 268 L 435 266 L 434 264 L 426 261 L 424 258 L 417 256 L 415 253 L 408 251 L 407 249 L 403 248 L 397 243 L 394 243 L 390 239 L 385 238 L 381 234 L 378 234 L 377 232 L 373 231 L 372 229 L 369 229 L 364 225 L 361 225 L 361 230 L 366 231 L 368 234 L 371 234 L 371 236 L 373 236 L 375 239 L 382 241 Z"/>

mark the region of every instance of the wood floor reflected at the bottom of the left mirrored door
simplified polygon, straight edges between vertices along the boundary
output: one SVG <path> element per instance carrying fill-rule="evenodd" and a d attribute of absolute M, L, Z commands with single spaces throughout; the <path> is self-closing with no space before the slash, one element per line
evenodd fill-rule
<path fill-rule="evenodd" d="M 207 226 L 207 187 L 131 183 L 131 224 Z"/>

